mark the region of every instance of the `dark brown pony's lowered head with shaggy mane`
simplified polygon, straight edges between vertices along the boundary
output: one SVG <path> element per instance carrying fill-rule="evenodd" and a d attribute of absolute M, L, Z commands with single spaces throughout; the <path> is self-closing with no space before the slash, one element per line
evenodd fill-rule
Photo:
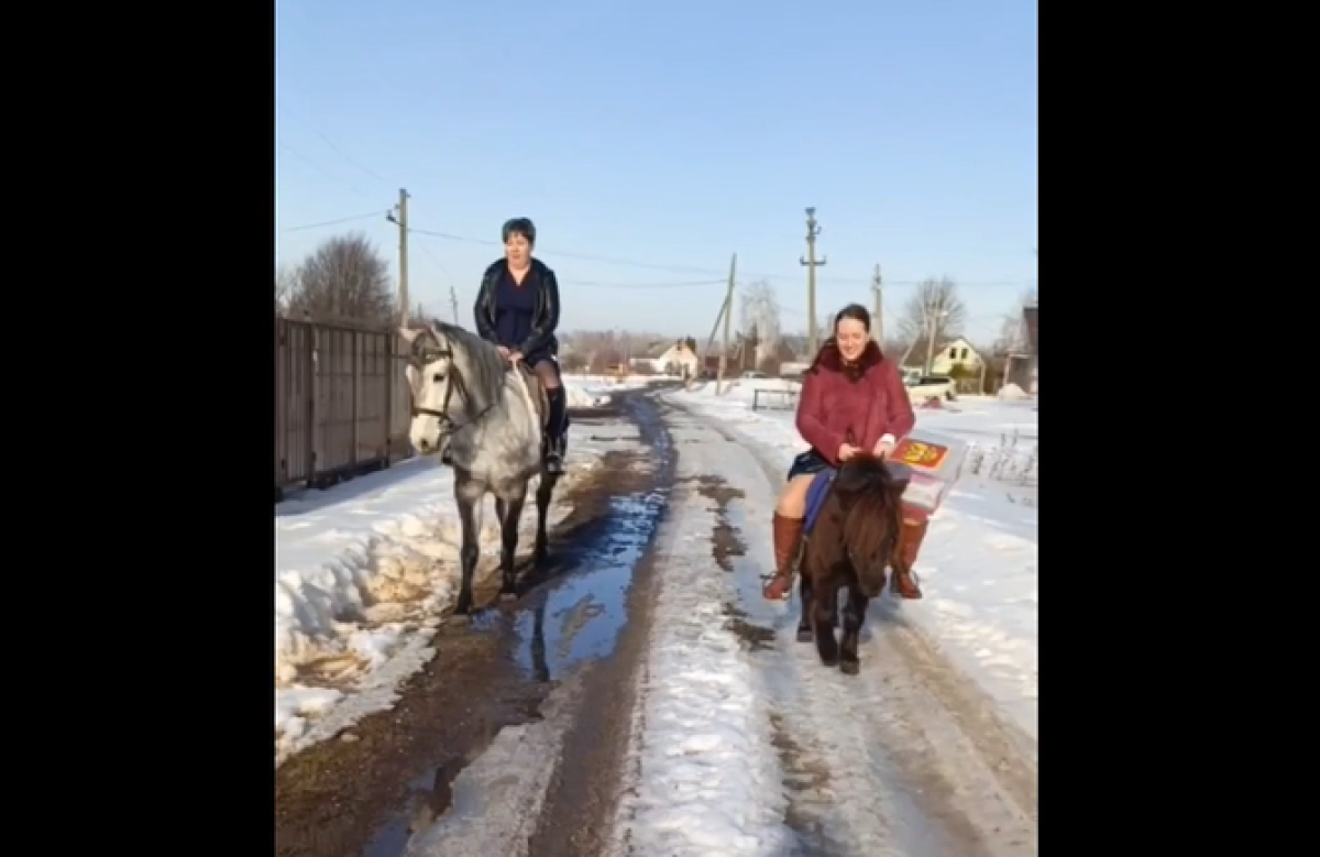
<path fill-rule="evenodd" d="M 857 572 L 862 594 L 879 598 L 884 566 L 890 565 L 903 530 L 903 490 L 883 458 L 854 456 L 834 477 L 834 494 L 843 510 L 843 548 Z"/>

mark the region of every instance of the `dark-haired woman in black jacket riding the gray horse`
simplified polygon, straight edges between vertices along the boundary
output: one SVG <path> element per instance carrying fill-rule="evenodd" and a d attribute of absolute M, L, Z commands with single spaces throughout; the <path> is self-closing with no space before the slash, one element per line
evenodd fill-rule
<path fill-rule="evenodd" d="M 504 257 L 492 263 L 477 293 L 477 333 L 499 346 L 510 363 L 527 363 L 541 380 L 549 397 L 550 416 L 545 429 L 545 469 L 564 473 L 564 434 L 568 408 L 560 378 L 560 284 L 540 259 L 532 257 L 536 226 L 527 218 L 513 218 L 502 231 Z"/>

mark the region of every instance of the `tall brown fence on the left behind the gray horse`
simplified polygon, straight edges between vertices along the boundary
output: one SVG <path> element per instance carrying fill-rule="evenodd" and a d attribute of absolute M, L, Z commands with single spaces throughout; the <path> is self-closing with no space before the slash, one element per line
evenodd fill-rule
<path fill-rule="evenodd" d="M 275 499 L 412 454 L 405 345 L 395 331 L 275 320 Z"/>

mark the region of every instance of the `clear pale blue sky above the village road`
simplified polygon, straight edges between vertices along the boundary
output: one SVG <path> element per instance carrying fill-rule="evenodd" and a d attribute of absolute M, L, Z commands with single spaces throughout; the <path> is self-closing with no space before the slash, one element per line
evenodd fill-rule
<path fill-rule="evenodd" d="M 413 302 L 446 318 L 531 217 L 565 329 L 704 338 L 734 252 L 805 329 L 814 206 L 821 316 L 869 305 L 879 263 L 887 330 L 949 275 L 985 339 L 1036 279 L 1036 24 L 1026 0 L 277 0 L 277 261 L 356 228 L 393 264 L 407 188 Z"/>

